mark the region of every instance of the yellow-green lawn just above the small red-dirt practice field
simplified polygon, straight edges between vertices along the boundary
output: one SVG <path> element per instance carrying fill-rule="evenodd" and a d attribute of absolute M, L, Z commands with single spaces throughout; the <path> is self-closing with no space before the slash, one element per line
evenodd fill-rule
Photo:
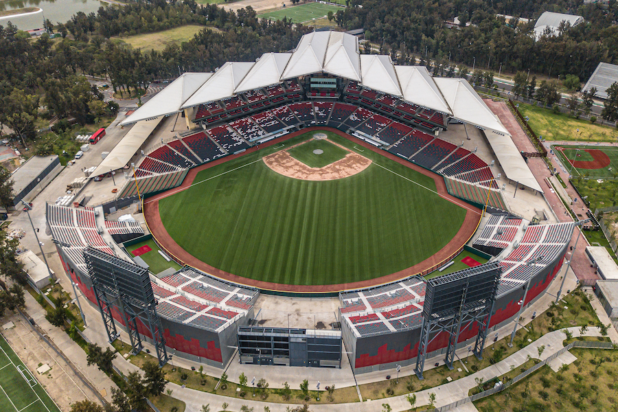
<path fill-rule="evenodd" d="M 561 113 L 556 114 L 548 108 L 520 103 L 519 111 L 528 116 L 529 125 L 534 132 L 547 140 L 570 141 L 616 141 L 618 131 L 609 126 L 591 124 L 588 120 L 575 119 Z M 598 121 L 597 121 L 598 122 Z M 577 129 L 580 131 L 577 132 Z"/>

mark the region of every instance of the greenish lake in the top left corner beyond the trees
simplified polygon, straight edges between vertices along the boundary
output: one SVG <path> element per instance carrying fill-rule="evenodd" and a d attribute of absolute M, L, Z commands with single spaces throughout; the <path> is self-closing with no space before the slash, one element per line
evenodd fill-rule
<path fill-rule="evenodd" d="M 77 12 L 96 13 L 102 5 L 106 4 L 108 3 L 98 0 L 0 0 L 0 11 L 26 7 L 43 9 L 43 12 L 27 16 L 2 17 L 0 25 L 6 27 L 6 23 L 10 21 L 21 30 L 37 29 L 43 27 L 43 16 L 54 24 L 66 23 Z"/>

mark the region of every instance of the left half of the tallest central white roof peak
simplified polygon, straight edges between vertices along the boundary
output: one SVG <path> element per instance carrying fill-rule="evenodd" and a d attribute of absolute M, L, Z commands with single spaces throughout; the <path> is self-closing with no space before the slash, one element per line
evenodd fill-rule
<path fill-rule="evenodd" d="M 281 80 L 305 76 L 322 70 L 331 32 L 312 32 L 301 37 Z"/>

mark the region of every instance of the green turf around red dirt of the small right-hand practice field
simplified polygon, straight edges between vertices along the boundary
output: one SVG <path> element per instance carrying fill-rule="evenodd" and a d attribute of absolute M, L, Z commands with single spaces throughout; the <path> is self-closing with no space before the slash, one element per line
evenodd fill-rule
<path fill-rule="evenodd" d="M 573 176 L 589 176 L 601 179 L 618 179 L 618 148 L 613 146 L 559 146 L 564 150 L 556 150 L 556 146 L 552 146 L 553 152 L 560 158 L 562 164 L 567 168 L 567 172 Z M 577 149 L 580 149 L 579 151 Z M 595 149 L 604 152 L 610 159 L 610 164 L 602 169 L 582 169 L 573 168 L 571 161 L 592 161 L 593 157 L 585 149 Z M 577 156 L 579 155 L 579 156 Z M 577 159 L 575 157 L 577 156 Z"/>

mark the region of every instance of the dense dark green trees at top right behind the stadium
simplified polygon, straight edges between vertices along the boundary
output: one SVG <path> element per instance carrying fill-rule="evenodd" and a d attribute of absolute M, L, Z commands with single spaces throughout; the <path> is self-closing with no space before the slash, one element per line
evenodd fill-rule
<path fill-rule="evenodd" d="M 562 24 L 557 36 L 531 35 L 542 12 L 566 12 L 584 16 L 575 27 Z M 514 16 L 508 23 L 496 14 Z M 449 29 L 444 21 L 459 16 L 461 25 Z M 520 17 L 531 19 L 529 22 Z M 512 0 L 350 0 L 335 20 L 345 29 L 365 28 L 365 37 L 391 50 L 393 59 L 410 54 L 433 58 L 445 65 L 464 63 L 492 71 L 528 71 L 549 77 L 573 74 L 588 78 L 601 61 L 618 58 L 618 5 L 610 1 Z M 466 26 L 466 23 L 472 23 Z"/>

